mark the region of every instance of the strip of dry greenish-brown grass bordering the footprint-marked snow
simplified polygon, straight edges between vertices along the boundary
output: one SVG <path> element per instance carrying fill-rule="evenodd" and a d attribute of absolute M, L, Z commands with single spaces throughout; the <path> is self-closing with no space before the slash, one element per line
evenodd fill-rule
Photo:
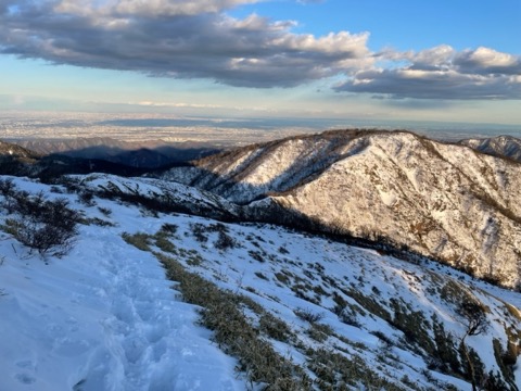
<path fill-rule="evenodd" d="M 183 299 L 201 310 L 201 324 L 214 331 L 219 348 L 237 357 L 238 368 L 246 373 L 252 382 L 265 390 L 310 390 L 312 381 L 304 370 L 282 357 L 271 344 L 260 337 L 240 310 L 247 301 L 241 295 L 224 291 L 201 276 L 189 273 L 176 260 L 155 253 L 166 268 L 169 279 L 178 281 Z M 272 321 L 275 317 L 264 315 L 263 328 L 277 339 L 287 340 L 288 326 Z"/>

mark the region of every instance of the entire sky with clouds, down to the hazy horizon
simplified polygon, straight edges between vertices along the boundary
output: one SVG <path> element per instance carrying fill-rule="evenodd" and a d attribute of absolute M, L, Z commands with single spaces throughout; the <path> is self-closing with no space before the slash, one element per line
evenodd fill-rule
<path fill-rule="evenodd" d="M 521 0 L 0 0 L 0 108 L 519 125 L 520 37 Z"/>

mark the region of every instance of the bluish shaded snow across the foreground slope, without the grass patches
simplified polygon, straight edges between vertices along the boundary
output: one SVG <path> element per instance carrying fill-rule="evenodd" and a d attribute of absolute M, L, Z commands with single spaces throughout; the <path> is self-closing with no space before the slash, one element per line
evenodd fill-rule
<path fill-rule="evenodd" d="M 91 189 L 112 182 L 122 190 L 143 194 L 166 191 L 156 180 L 111 176 L 84 179 L 84 186 Z M 262 224 L 224 224 L 237 245 L 221 250 L 215 247 L 216 232 L 206 232 L 204 243 L 192 235 L 193 224 L 216 223 L 208 218 L 154 216 L 136 205 L 99 198 L 96 204 L 85 205 L 75 194 L 50 193 L 48 186 L 27 179 L 15 181 L 31 192 L 45 190 L 50 198 L 67 197 L 86 216 L 110 220 L 113 226 L 81 225 L 76 245 L 63 258 L 29 254 L 14 239 L 0 234 L 0 293 L 4 293 L 0 295 L 0 313 L 9 314 L 0 318 L 0 391 L 256 389 L 245 374 L 236 370 L 237 360 L 219 350 L 212 341 L 213 333 L 198 325 L 199 308 L 182 301 L 175 283 L 166 280 L 157 258 L 122 238 L 124 232 L 154 235 L 165 223 L 178 227 L 169 239 L 183 250 L 179 254 L 194 252 L 203 260 L 191 264 L 188 257 L 178 255 L 187 269 L 223 289 L 247 295 L 289 325 L 304 346 L 361 357 L 379 376 L 398 384 L 407 375 L 419 387 L 433 387 L 424 376 L 424 357 L 399 343 L 404 339 L 402 331 L 345 292 L 354 290 L 372 299 L 390 314 L 391 299 L 399 299 L 409 311 L 424 314 L 425 319 L 436 314 L 447 331 L 460 337 L 463 325 L 454 304 L 442 299 L 440 291 L 448 282 L 471 289 L 492 308 L 490 331 L 468 338 L 487 370 L 497 370 L 492 339 L 499 339 L 503 345 L 507 341 L 501 319 L 507 321 L 504 302 L 521 306 L 519 293 L 471 280 L 434 263 L 416 265 L 373 250 Z M 191 198 L 213 202 L 205 193 L 176 184 L 168 190 L 177 191 L 180 199 L 186 197 L 187 202 Z M 112 213 L 103 215 L 100 207 Z M 262 254 L 263 262 L 251 256 L 255 251 Z M 300 286 L 312 288 L 296 294 Z M 319 294 L 318 288 L 325 293 Z M 356 314 L 358 326 L 347 325 L 332 311 L 333 293 L 364 311 Z M 314 340 L 308 333 L 309 323 L 296 315 L 297 310 L 321 314 L 320 324 L 344 339 L 329 336 L 323 342 Z M 246 314 L 252 319 L 257 316 Z M 519 329 L 519 325 L 514 326 Z M 387 353 L 397 364 L 382 358 L 382 341 L 376 332 L 396 343 Z M 296 344 L 274 339 L 270 342 L 282 356 L 305 365 L 307 356 Z M 459 378 L 429 373 L 458 390 L 471 389 Z M 518 369 L 518 387 L 520 375 Z"/>

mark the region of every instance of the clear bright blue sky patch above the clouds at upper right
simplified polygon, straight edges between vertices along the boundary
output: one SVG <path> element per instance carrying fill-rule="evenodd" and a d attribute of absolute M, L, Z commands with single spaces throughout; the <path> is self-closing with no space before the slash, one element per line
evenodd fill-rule
<path fill-rule="evenodd" d="M 457 50 L 478 46 L 521 52 L 521 1 L 519 0 L 327 0 L 302 4 L 268 1 L 242 7 L 231 13 L 251 12 L 280 20 L 296 20 L 296 30 L 317 35 L 330 31 L 369 31 L 369 48 L 423 50 L 448 43 Z"/>

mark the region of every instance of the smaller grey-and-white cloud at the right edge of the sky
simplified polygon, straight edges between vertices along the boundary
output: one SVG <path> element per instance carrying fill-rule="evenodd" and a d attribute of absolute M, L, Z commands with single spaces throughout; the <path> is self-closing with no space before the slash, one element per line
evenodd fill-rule
<path fill-rule="evenodd" d="M 521 58 L 508 53 L 483 47 L 457 52 L 443 45 L 378 56 L 395 66 L 357 71 L 335 90 L 396 99 L 521 99 Z"/>

